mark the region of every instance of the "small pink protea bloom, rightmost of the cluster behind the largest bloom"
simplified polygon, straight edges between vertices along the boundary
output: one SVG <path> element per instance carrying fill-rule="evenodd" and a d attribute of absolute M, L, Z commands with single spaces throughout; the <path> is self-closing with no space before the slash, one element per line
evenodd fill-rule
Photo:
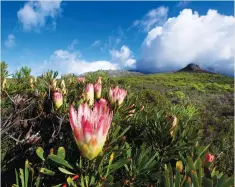
<path fill-rule="evenodd" d="M 126 95 L 127 91 L 125 89 L 119 88 L 118 86 L 115 88 L 110 88 L 109 90 L 109 99 L 112 104 L 118 101 L 118 105 L 120 106 L 123 103 Z"/>

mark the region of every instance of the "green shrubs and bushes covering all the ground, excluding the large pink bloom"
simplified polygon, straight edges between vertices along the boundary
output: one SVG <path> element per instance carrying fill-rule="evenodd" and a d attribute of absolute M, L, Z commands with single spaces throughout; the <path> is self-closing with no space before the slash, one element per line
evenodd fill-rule
<path fill-rule="evenodd" d="M 30 73 L 23 67 L 9 78 L 1 63 L 2 186 L 233 186 L 232 78 L 185 72 L 111 78 L 98 71 L 83 82 Z M 95 108 L 88 83 L 99 76 L 113 118 L 102 151 L 90 159 L 76 145 L 70 106 Z M 119 103 L 109 93 L 117 85 L 127 90 Z"/>

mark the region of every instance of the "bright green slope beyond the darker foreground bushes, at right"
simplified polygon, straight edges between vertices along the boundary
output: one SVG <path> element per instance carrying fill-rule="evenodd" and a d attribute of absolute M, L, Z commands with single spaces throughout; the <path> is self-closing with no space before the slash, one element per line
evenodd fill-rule
<path fill-rule="evenodd" d="M 162 73 L 112 78 L 113 83 L 129 85 L 152 107 L 172 104 L 198 109 L 198 123 L 203 126 L 202 144 L 211 143 L 211 151 L 225 157 L 218 163 L 224 171 L 233 172 L 233 78 L 207 73 Z M 231 165 L 231 166 L 230 166 Z"/>

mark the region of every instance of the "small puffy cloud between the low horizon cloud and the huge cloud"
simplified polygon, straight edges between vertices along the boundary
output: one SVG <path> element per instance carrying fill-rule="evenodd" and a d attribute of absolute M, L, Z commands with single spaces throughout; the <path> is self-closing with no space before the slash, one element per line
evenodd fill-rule
<path fill-rule="evenodd" d="M 127 46 L 122 46 L 120 51 L 110 50 L 112 63 L 119 64 L 120 68 L 134 68 L 136 60 L 132 56 L 131 50 Z"/>

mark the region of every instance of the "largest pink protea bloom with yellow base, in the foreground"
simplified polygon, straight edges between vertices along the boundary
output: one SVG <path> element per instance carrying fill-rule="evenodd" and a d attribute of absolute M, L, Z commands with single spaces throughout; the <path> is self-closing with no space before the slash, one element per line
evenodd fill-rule
<path fill-rule="evenodd" d="M 87 103 L 79 105 L 78 111 L 70 107 L 70 125 L 84 157 L 92 160 L 102 151 L 112 118 L 105 99 L 96 102 L 93 109 Z"/>

